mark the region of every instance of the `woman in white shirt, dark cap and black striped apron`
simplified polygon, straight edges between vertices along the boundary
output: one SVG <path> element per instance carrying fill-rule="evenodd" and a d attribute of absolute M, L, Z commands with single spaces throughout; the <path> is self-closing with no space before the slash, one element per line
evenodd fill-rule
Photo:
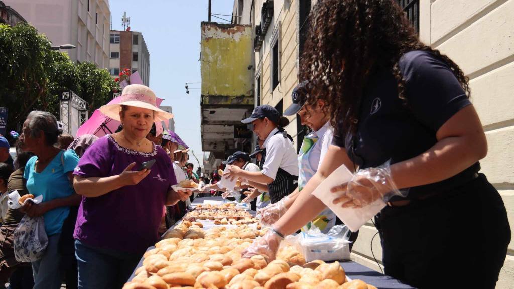
<path fill-rule="evenodd" d="M 255 107 L 252 115 L 241 122 L 252 123 L 255 134 L 264 140 L 266 160 L 263 168 L 259 172 L 249 172 L 237 166 L 230 166 L 226 173 L 227 177 L 248 180 L 250 186 L 254 183 L 267 184 L 271 203 L 280 201 L 298 187 L 298 155 L 290 137 L 282 128 L 281 124 L 288 122 L 284 119 L 272 106 Z"/>

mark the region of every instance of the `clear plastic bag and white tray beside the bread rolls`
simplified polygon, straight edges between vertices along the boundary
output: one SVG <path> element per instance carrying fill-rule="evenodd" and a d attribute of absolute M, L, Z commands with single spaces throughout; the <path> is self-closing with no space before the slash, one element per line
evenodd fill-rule
<path fill-rule="evenodd" d="M 350 260 L 350 230 L 346 225 L 332 227 L 324 234 L 316 226 L 307 232 L 286 237 L 305 257 L 306 262 L 314 260 Z"/>

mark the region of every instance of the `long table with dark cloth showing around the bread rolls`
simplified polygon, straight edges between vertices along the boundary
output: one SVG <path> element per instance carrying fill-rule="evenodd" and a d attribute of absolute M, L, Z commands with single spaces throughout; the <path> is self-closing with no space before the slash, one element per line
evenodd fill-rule
<path fill-rule="evenodd" d="M 223 197 L 221 196 L 209 196 L 209 197 L 197 197 L 193 200 L 193 204 L 197 203 L 203 203 L 204 200 L 209 201 L 223 201 Z M 250 211 L 252 215 L 255 215 L 255 211 Z M 173 227 L 170 228 L 170 230 L 173 229 Z M 148 250 L 151 250 L 155 247 L 150 247 Z M 139 261 L 139 264 L 136 268 L 139 268 L 142 266 L 143 259 Z M 353 262 L 353 261 L 342 261 L 340 262 L 341 266 L 343 267 L 344 271 L 346 272 L 346 276 L 352 280 L 360 279 L 366 283 L 369 283 L 379 289 L 414 289 L 414 287 L 411 287 L 409 285 L 403 284 L 400 281 L 380 274 L 379 272 L 376 272 L 373 269 L 370 269 L 368 267 L 365 267 L 359 263 Z M 135 272 L 135 269 L 134 269 Z M 134 273 L 132 274 L 131 278 L 132 280 L 134 278 Z"/>

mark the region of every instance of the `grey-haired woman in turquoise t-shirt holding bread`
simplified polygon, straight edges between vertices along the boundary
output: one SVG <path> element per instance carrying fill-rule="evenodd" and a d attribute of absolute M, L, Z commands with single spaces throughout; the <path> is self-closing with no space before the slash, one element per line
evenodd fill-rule
<path fill-rule="evenodd" d="M 33 111 L 23 123 L 20 141 L 23 149 L 35 154 L 25 166 L 23 177 L 34 196 L 43 195 L 41 204 L 27 202 L 22 208 L 31 217 L 44 216 L 48 245 L 42 259 L 32 262 L 34 288 L 60 288 L 59 241 L 70 206 L 80 202 L 70 179 L 79 157 L 74 151 L 63 151 L 56 144 L 59 135 L 57 119 L 47 112 Z"/>

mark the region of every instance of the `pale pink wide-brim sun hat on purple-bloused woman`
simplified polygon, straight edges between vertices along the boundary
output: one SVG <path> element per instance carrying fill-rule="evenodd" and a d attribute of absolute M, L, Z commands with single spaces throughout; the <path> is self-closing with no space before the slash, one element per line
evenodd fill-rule
<path fill-rule="evenodd" d="M 100 112 L 114 120 L 120 120 L 121 105 L 140 107 L 155 112 L 154 121 L 168 121 L 173 114 L 167 113 L 157 107 L 157 97 L 150 87 L 141 84 L 131 84 L 123 88 L 120 102 L 106 104 L 100 107 Z"/>

